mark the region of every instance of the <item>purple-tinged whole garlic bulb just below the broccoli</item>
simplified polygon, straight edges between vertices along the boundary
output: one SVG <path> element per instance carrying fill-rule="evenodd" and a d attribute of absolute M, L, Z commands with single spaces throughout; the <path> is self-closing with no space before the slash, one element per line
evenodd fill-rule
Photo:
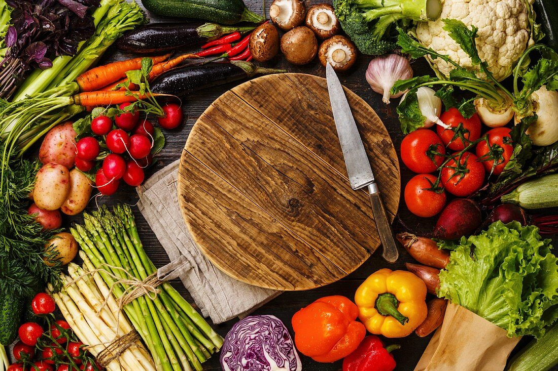
<path fill-rule="evenodd" d="M 374 58 L 368 64 L 366 81 L 372 90 L 382 94 L 382 101 L 389 103 L 389 98 L 400 97 L 405 91 L 390 95 L 389 91 L 397 80 L 407 80 L 413 77 L 413 70 L 407 58 L 397 54 L 386 54 Z"/>

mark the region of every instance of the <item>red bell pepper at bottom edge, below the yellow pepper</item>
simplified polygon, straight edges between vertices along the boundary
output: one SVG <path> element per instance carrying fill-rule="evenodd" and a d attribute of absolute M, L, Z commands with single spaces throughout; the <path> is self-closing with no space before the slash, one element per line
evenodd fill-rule
<path fill-rule="evenodd" d="M 393 371 L 395 360 L 390 352 L 395 349 L 399 349 L 399 345 L 384 348 L 378 336 L 367 336 L 353 353 L 345 357 L 343 371 Z"/>

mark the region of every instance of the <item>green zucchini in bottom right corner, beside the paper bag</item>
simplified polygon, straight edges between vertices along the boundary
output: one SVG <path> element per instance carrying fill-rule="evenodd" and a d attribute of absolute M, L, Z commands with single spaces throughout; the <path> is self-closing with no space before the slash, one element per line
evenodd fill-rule
<path fill-rule="evenodd" d="M 507 371 L 547 371 L 558 364 L 558 324 L 532 340 L 509 363 Z"/>

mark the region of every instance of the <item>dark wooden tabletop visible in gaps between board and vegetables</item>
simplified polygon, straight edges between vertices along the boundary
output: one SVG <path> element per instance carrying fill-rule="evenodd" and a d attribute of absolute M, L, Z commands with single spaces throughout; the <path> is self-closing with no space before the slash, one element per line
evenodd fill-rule
<path fill-rule="evenodd" d="M 245 0 L 247 3 L 248 8 L 252 11 L 257 13 L 262 13 L 263 4 L 261 0 Z M 306 0 L 307 4 L 314 4 L 320 3 L 321 1 Z M 267 7 L 271 3 L 270 0 L 267 2 Z M 148 13 L 148 17 L 151 19 L 151 22 L 160 22 L 160 21 L 169 21 L 171 19 L 163 19 L 161 17 L 153 16 L 152 14 Z M 176 21 L 177 19 L 172 19 Z M 118 52 L 114 48 L 110 48 L 105 57 L 103 58 L 103 62 L 105 61 L 112 61 L 121 59 L 123 57 L 128 57 L 121 52 Z M 400 144 L 401 140 L 403 139 L 403 134 L 401 133 L 399 121 L 397 119 L 397 115 L 395 113 L 395 109 L 399 99 L 392 100 L 392 104 L 386 105 L 382 102 L 381 96 L 376 94 L 372 91 L 372 89 L 368 86 L 365 78 L 364 72 L 368 66 L 368 62 L 371 60 L 369 56 L 359 56 L 357 65 L 355 65 L 351 70 L 344 74 L 340 74 L 341 83 L 347 86 L 349 89 L 357 93 L 360 97 L 362 97 L 365 101 L 368 102 L 369 105 L 372 106 L 374 110 L 376 110 L 377 114 L 383 120 L 383 123 L 386 125 L 389 134 L 391 135 L 391 139 L 393 140 L 393 145 L 395 146 L 397 153 L 400 152 Z M 325 77 L 325 69 L 320 65 L 319 61 L 316 60 L 309 65 L 306 66 L 294 66 L 288 64 L 282 56 L 277 56 L 271 62 L 266 64 L 268 67 L 276 67 L 281 69 L 286 69 L 289 72 L 302 72 L 305 74 L 312 74 Z M 429 74 L 431 72 L 430 67 L 426 64 L 424 60 L 417 60 L 412 64 L 413 70 L 415 71 L 415 76 L 417 75 L 424 75 Z M 242 81 L 241 81 L 242 82 Z M 240 83 L 240 82 L 239 82 Z M 239 84 L 238 83 L 238 84 Z M 225 91 L 229 90 L 231 87 L 237 84 L 229 84 L 224 86 L 214 87 L 210 90 L 196 92 L 195 94 L 190 95 L 184 101 L 184 111 L 186 114 L 185 124 L 182 125 L 180 128 L 171 131 L 165 131 L 166 136 L 166 145 L 163 148 L 162 152 L 157 156 L 158 162 L 153 165 L 150 169 L 147 170 L 146 177 L 150 176 L 151 174 L 157 172 L 157 170 L 162 169 L 167 164 L 170 164 L 174 160 L 180 157 L 182 148 L 184 148 L 184 144 L 186 142 L 186 138 L 190 133 L 192 126 L 194 125 L 196 119 L 203 113 L 203 111 L 211 104 L 211 102 Z M 403 163 L 401 165 L 401 178 L 402 178 L 402 185 L 405 186 L 408 179 L 412 177 L 412 173 L 408 170 Z M 384 189 L 383 192 L 389 192 L 389 189 Z M 137 194 L 131 187 L 121 187 L 118 193 L 114 194 L 110 197 L 102 197 L 98 199 L 98 204 L 107 203 L 107 204 L 115 204 L 125 202 L 131 205 L 137 203 Z M 95 209 L 95 202 L 91 202 L 88 209 Z M 157 241 L 157 238 L 151 231 L 150 227 L 146 223 L 145 219 L 143 219 L 141 213 L 138 211 L 137 208 L 134 208 L 134 213 L 136 215 L 136 221 L 138 224 L 138 228 L 140 230 L 140 236 L 142 238 L 143 244 L 146 248 L 148 255 L 151 257 L 153 262 L 156 266 L 165 265 L 169 262 L 169 258 L 166 256 L 165 251 L 163 250 L 160 243 Z M 419 221 L 416 218 L 413 218 L 411 214 L 405 207 L 405 202 L 401 201 L 400 208 L 399 208 L 399 216 L 400 218 L 412 227 L 419 226 Z M 76 218 L 79 220 L 80 217 Z M 430 227 L 431 221 L 426 221 L 425 219 L 421 219 L 420 228 L 424 228 L 426 230 Z M 372 226 L 371 226 L 372 227 Z M 401 230 L 401 225 L 396 221 L 394 224 L 394 229 Z M 404 263 L 413 261 L 412 258 L 408 255 L 405 249 L 400 249 L 400 258 L 399 260 L 390 265 L 382 260 L 381 258 L 381 248 L 378 249 L 374 255 L 369 258 L 359 269 L 357 269 L 353 274 L 349 275 L 348 277 L 335 282 L 334 284 L 330 284 L 324 287 L 320 287 L 318 289 L 310 290 L 310 291 L 302 291 L 302 292 L 285 292 L 282 295 L 278 296 L 276 299 L 272 300 L 268 304 L 264 305 L 263 307 L 259 308 L 254 312 L 254 314 L 273 314 L 280 318 L 283 323 L 290 329 L 292 334 L 291 328 L 291 317 L 292 315 L 299 310 L 301 307 L 304 307 L 310 304 L 312 301 L 318 299 L 319 297 L 328 296 L 328 295 L 344 295 L 353 299 L 354 292 L 357 287 L 362 284 L 363 280 L 366 279 L 369 275 L 375 272 L 378 269 L 389 267 L 390 269 L 405 269 Z M 190 295 L 184 289 L 184 286 L 179 281 L 174 281 L 173 285 L 183 294 L 190 302 L 191 300 Z M 242 300 L 242 298 L 238 298 L 238 300 Z M 235 323 L 235 320 L 228 321 L 227 323 L 215 325 L 217 331 L 225 336 L 231 326 Z M 427 338 L 419 338 L 414 333 L 407 336 L 406 338 L 401 339 L 387 339 L 387 343 L 397 343 L 401 345 L 400 350 L 396 350 L 393 355 L 397 361 L 397 370 L 412 370 L 415 367 L 415 364 L 421 357 L 422 352 L 424 351 L 428 341 L 430 340 L 430 336 Z M 341 362 L 336 362 L 333 364 L 321 364 L 314 362 L 310 358 L 302 357 L 303 369 L 306 371 L 333 371 L 333 370 L 340 370 L 341 369 Z M 220 370 L 219 365 L 219 357 L 218 355 L 211 358 L 208 362 L 204 364 L 204 370 Z"/>

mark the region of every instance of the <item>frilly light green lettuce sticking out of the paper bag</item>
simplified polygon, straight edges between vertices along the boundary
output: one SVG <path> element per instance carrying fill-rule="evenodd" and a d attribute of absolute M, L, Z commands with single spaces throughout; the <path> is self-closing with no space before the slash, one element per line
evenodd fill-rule
<path fill-rule="evenodd" d="M 537 227 L 492 223 L 478 236 L 461 238 L 440 272 L 437 294 L 510 337 L 538 338 L 558 318 L 558 268 L 551 248 Z"/>

